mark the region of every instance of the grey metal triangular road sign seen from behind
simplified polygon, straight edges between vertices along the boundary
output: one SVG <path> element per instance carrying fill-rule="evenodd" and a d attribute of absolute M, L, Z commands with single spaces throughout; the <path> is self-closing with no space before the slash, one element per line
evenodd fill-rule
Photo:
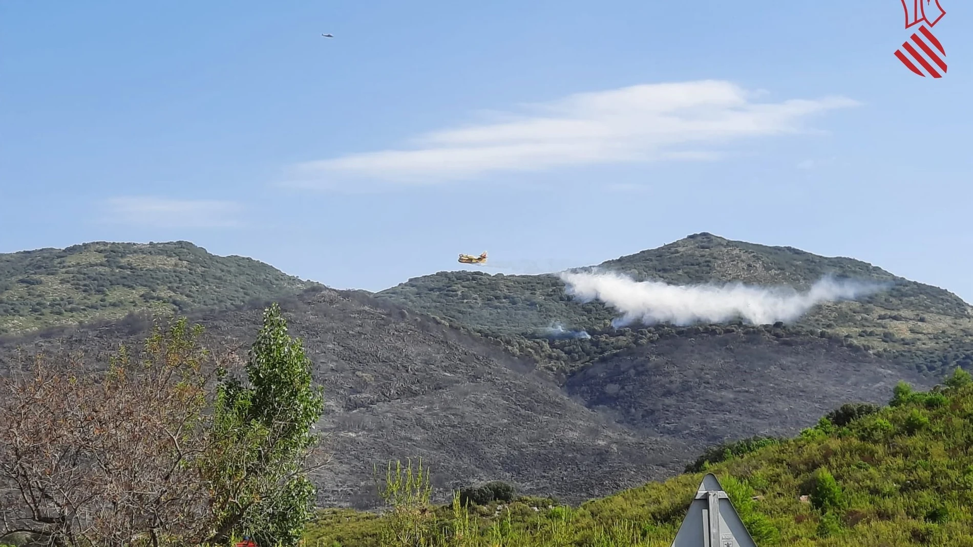
<path fill-rule="evenodd" d="M 672 547 L 757 547 L 730 496 L 712 473 L 703 477 Z"/>

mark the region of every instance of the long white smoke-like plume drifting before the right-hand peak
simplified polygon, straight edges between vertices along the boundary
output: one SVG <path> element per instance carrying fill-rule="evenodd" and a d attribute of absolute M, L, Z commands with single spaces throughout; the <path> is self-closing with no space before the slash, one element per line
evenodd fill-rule
<path fill-rule="evenodd" d="M 740 283 L 675 286 L 658 281 L 634 281 L 617 273 L 561 272 L 569 294 L 584 301 L 598 299 L 623 315 L 615 325 L 641 321 L 645 325 L 669 323 L 724 323 L 742 319 L 755 325 L 791 322 L 822 302 L 854 299 L 883 289 L 883 285 L 836 281 L 826 277 L 811 290 L 790 287 L 754 287 Z"/>

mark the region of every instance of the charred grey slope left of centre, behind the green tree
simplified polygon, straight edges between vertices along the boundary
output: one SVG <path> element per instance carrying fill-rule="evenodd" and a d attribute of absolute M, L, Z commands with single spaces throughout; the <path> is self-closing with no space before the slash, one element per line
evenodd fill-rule
<path fill-rule="evenodd" d="M 334 457 L 315 478 L 321 503 L 369 506 L 373 465 L 392 459 L 434 463 L 440 486 L 504 479 L 579 501 L 666 476 L 692 455 L 676 439 L 586 408 L 525 359 L 367 294 L 318 288 L 281 307 L 328 399 L 321 427 Z M 261 309 L 191 318 L 205 326 L 208 345 L 245 359 Z M 37 353 L 82 352 L 104 365 L 108 352 L 138 344 L 149 326 L 129 317 L 8 339 L 0 342 L 0 374 Z"/>

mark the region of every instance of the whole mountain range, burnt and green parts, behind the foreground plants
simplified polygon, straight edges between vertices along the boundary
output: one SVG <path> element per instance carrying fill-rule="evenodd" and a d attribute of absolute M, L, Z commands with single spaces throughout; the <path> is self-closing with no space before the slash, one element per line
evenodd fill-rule
<path fill-rule="evenodd" d="M 304 282 L 183 242 L 87 244 L 4 259 L 4 279 L 13 281 L 0 304 L 19 310 L 4 316 L 8 325 L 102 319 L 8 334 L 0 372 L 18 346 L 103 359 L 144 336 L 148 324 L 137 315 L 106 321 L 99 312 L 118 316 L 151 302 L 157 311 L 196 309 L 191 315 L 215 347 L 242 351 L 260 324 L 254 301 L 283 300 L 332 405 L 322 426 L 333 433 L 336 460 L 320 477 L 322 501 L 342 504 L 374 501 L 360 497 L 372 463 L 419 456 L 453 485 L 507 479 L 565 499 L 608 494 L 670 474 L 713 442 L 791 434 L 848 400 L 882 401 L 897 380 L 929 387 L 930 371 L 973 362 L 969 307 L 948 291 L 848 258 L 709 234 L 604 267 L 672 283 L 806 287 L 830 273 L 893 286 L 862 302 L 818 306 L 798 325 L 616 329 L 612 310 L 573 300 L 553 276 L 443 272 L 378 295 L 314 285 L 293 296 Z M 24 301 L 41 311 L 23 312 Z M 588 333 L 543 331 L 555 323 Z"/>

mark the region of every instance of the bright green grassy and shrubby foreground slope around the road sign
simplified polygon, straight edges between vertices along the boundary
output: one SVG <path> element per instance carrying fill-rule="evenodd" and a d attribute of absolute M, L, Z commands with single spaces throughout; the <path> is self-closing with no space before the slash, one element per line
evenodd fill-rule
<path fill-rule="evenodd" d="M 321 511 L 308 545 L 667 547 L 704 472 L 760 547 L 973 546 L 973 380 L 899 384 L 880 408 L 849 404 L 792 439 L 713 450 L 687 473 L 579 507 L 553 499 L 429 504 L 428 470 L 389 467 L 382 514 Z"/>

